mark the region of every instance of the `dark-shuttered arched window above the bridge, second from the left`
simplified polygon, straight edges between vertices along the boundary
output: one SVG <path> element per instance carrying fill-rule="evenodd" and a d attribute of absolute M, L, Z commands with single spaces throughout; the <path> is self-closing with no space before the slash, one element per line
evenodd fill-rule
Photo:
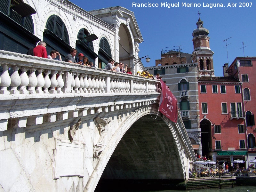
<path fill-rule="evenodd" d="M 52 15 L 46 23 L 46 28 L 69 44 L 68 30 L 59 16 Z"/>

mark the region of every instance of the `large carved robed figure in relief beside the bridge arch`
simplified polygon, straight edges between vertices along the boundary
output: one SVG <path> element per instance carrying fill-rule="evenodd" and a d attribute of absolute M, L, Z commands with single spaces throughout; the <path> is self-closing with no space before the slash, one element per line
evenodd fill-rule
<path fill-rule="evenodd" d="M 104 151 L 108 143 L 108 126 L 106 125 L 110 123 L 110 119 L 96 117 L 93 122 L 98 128 L 100 134 L 100 138 L 93 148 L 93 156 L 94 158 L 99 158 L 100 154 L 102 151 Z"/>

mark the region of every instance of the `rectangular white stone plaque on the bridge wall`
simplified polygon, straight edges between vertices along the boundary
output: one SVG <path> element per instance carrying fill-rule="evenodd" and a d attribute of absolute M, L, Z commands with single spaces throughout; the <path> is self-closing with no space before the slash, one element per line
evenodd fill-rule
<path fill-rule="evenodd" d="M 60 177 L 84 177 L 84 143 L 54 140 L 53 179 Z"/>

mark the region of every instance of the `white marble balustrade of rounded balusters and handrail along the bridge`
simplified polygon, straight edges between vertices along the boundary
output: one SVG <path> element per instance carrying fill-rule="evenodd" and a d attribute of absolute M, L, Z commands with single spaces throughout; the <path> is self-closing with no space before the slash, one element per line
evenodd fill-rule
<path fill-rule="evenodd" d="M 0 94 L 156 92 L 155 79 L 3 50 L 0 65 Z"/>

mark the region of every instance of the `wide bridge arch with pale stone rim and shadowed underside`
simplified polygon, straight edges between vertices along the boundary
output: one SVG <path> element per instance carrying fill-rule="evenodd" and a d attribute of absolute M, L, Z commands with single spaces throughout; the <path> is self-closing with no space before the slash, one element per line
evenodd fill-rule
<path fill-rule="evenodd" d="M 125 119 L 96 159 L 84 191 L 94 191 L 100 179 L 168 180 L 169 184 L 186 180 L 189 159 L 176 125 L 157 114 L 155 104 L 141 107 Z"/>

